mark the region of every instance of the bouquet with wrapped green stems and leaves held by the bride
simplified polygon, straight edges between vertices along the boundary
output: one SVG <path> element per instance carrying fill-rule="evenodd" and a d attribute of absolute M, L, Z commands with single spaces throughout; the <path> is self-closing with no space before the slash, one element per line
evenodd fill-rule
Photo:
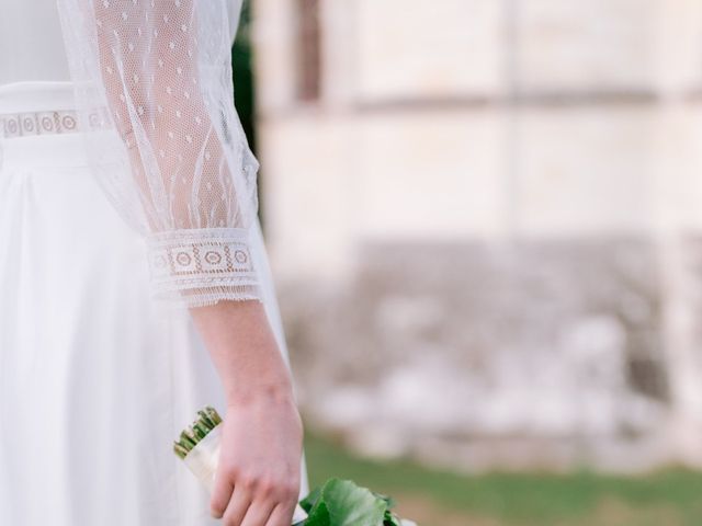
<path fill-rule="evenodd" d="M 181 432 L 173 451 L 212 492 L 219 460 L 222 418 L 207 405 L 197 419 Z M 331 478 L 314 489 L 295 508 L 293 526 L 417 526 L 400 519 L 392 507 L 394 501 L 356 485 L 351 480 Z"/>

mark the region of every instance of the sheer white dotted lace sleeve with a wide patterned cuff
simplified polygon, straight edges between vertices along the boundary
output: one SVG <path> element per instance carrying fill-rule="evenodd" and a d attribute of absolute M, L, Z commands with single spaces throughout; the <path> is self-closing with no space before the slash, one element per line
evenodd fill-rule
<path fill-rule="evenodd" d="M 234 107 L 226 0 L 58 0 L 90 162 L 147 239 L 157 297 L 261 300 L 258 161 Z"/>

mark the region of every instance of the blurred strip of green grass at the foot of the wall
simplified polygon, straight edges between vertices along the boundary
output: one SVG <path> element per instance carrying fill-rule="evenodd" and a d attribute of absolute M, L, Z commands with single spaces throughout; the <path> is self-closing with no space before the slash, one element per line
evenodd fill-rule
<path fill-rule="evenodd" d="M 420 526 L 700 526 L 702 473 L 666 469 L 645 477 L 492 473 L 477 477 L 408 460 L 375 461 L 308 434 L 312 487 L 352 479 L 395 496 Z"/>

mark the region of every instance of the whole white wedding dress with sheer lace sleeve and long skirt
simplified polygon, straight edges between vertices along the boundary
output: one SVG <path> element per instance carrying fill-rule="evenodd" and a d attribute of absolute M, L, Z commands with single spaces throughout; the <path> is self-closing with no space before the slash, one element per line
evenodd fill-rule
<path fill-rule="evenodd" d="M 0 525 L 220 524 L 171 449 L 224 407 L 186 308 L 263 301 L 287 359 L 239 10 L 0 0 Z"/>

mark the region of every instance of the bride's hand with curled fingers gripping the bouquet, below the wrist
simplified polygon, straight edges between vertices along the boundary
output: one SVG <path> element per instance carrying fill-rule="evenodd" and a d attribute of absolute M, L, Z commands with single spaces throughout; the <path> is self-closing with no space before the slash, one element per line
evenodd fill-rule
<path fill-rule="evenodd" d="M 212 515 L 225 526 L 291 526 L 301 484 L 302 420 L 290 388 L 257 390 L 227 407 Z"/>

